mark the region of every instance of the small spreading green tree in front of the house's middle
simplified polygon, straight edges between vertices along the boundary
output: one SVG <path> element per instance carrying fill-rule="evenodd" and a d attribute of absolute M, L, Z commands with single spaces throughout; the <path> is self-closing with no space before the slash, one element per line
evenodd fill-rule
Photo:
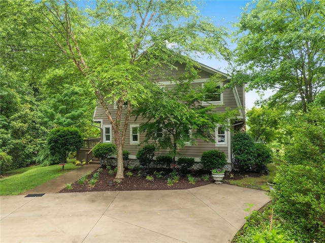
<path fill-rule="evenodd" d="M 237 114 L 236 110 L 216 113 L 213 109 L 217 106 L 200 105 L 207 91 L 201 85 L 193 87 L 192 79 L 175 81 L 173 88 L 153 90 L 154 99 L 141 103 L 133 111 L 146 120 L 140 126 L 146 132 L 144 142 L 155 141 L 159 148 L 169 149 L 174 162 L 179 148 L 194 144 L 194 138 L 211 142 L 215 124 L 226 124 Z M 205 84 L 215 86 L 216 81 L 212 78 Z"/>

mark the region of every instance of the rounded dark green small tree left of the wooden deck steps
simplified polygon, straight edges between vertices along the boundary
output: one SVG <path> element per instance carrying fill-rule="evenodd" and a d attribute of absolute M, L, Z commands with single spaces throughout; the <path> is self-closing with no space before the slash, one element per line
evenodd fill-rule
<path fill-rule="evenodd" d="M 78 151 L 83 146 L 80 131 L 72 127 L 52 129 L 47 137 L 50 153 L 59 156 L 60 162 L 66 162 L 70 152 Z"/>

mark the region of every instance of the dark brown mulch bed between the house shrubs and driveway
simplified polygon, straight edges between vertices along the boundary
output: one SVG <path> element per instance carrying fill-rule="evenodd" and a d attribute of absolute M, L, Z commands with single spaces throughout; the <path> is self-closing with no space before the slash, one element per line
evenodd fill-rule
<path fill-rule="evenodd" d="M 127 176 L 126 172 L 130 171 L 133 173 L 132 176 Z M 161 173 L 161 177 L 158 178 L 154 176 L 154 171 L 163 171 Z M 109 181 L 113 181 L 115 178 L 114 175 L 109 175 L 109 172 L 106 168 L 103 168 L 103 172 L 100 173 L 99 178 L 96 180 L 94 186 L 90 185 L 90 180 L 93 178 L 94 173 L 98 172 L 95 170 L 90 175 L 87 175 L 87 179 L 83 183 L 74 182 L 72 184 L 72 189 L 68 190 L 64 188 L 59 191 L 59 193 L 64 192 L 91 192 L 91 191 L 135 191 L 135 190 L 178 190 L 178 189 L 189 189 L 193 187 L 200 187 L 204 185 L 208 185 L 214 183 L 211 173 L 206 170 L 196 170 L 196 171 L 187 171 L 181 173 L 179 171 L 180 179 L 178 182 L 175 182 L 173 185 L 168 185 L 167 180 L 171 178 L 170 172 L 173 169 L 161 169 L 161 168 L 150 168 L 148 170 L 137 170 L 137 169 L 125 169 L 124 171 L 124 179 L 117 183 L 114 182 L 113 186 L 108 186 Z M 195 183 L 189 183 L 187 176 L 190 174 L 192 177 L 196 179 Z M 210 175 L 208 181 L 204 181 L 202 179 L 203 175 Z M 153 181 L 148 181 L 146 179 L 147 175 L 153 177 Z M 263 174 L 256 172 L 226 172 L 225 177 L 223 179 L 223 183 L 230 184 L 231 180 L 239 180 L 244 177 L 260 177 Z"/>

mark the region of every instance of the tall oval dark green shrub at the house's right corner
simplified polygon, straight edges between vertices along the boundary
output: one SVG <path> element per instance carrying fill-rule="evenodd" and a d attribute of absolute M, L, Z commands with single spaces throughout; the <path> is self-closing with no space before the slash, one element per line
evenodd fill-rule
<path fill-rule="evenodd" d="M 241 170 L 249 169 L 255 163 L 255 143 L 247 133 L 237 133 L 232 141 L 235 163 Z"/>

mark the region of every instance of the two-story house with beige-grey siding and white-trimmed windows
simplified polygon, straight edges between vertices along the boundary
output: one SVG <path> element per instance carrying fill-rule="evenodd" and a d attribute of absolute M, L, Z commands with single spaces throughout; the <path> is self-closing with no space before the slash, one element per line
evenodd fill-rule
<path fill-rule="evenodd" d="M 223 80 L 218 85 L 223 86 L 226 83 L 230 82 L 231 77 L 219 72 L 217 70 L 214 70 L 213 68 L 206 66 L 204 64 L 201 64 L 201 72 L 200 72 L 200 78 L 193 81 L 193 84 L 195 85 L 204 85 L 204 83 L 215 74 L 218 74 L 221 79 Z M 177 66 L 177 70 L 172 71 L 173 76 L 177 78 L 177 76 L 180 76 L 182 73 L 185 72 L 185 65 L 179 64 Z M 158 80 L 160 85 L 168 86 L 173 85 L 173 83 L 169 80 Z M 225 153 L 227 159 L 228 159 L 228 169 L 232 169 L 232 148 L 231 148 L 231 141 L 232 141 L 232 131 L 240 130 L 245 126 L 245 91 L 243 86 L 235 86 L 234 88 L 230 89 L 224 89 L 222 93 L 220 94 L 211 94 L 211 97 L 208 102 L 202 101 L 203 106 L 210 106 L 213 105 L 219 105 L 214 111 L 218 113 L 222 113 L 225 111 L 226 108 L 230 109 L 238 109 L 238 114 L 234 119 L 231 119 L 229 122 L 229 127 L 231 129 L 224 129 L 222 126 L 218 126 L 216 124 L 215 126 L 215 132 L 213 134 L 214 136 L 214 142 L 213 143 L 207 143 L 201 140 L 196 141 L 196 145 L 186 145 L 183 148 L 180 148 L 178 152 L 183 157 L 192 157 L 196 161 L 200 161 L 201 155 L 204 151 L 211 150 L 211 149 L 217 149 Z M 116 109 L 116 106 L 111 105 L 109 107 L 112 109 L 112 115 L 116 112 L 114 112 L 114 109 Z M 115 118 L 115 117 L 114 117 Z M 112 131 L 112 126 L 105 114 L 105 111 L 103 108 L 98 105 L 95 108 L 93 121 L 98 123 L 98 126 L 101 128 L 101 142 L 102 143 L 114 143 L 114 134 Z M 123 122 L 123 121 L 121 121 Z M 144 121 L 141 119 L 135 119 L 135 117 L 131 117 L 128 124 L 128 131 L 126 134 L 126 140 L 124 144 L 124 150 L 127 150 L 130 155 L 130 159 L 136 159 L 136 154 L 140 148 L 144 146 L 143 141 L 145 138 L 145 134 L 141 134 L 139 132 L 139 125 L 143 123 Z M 121 124 L 121 127 L 123 127 L 124 124 Z M 166 151 L 159 151 L 157 154 L 166 154 Z"/>

